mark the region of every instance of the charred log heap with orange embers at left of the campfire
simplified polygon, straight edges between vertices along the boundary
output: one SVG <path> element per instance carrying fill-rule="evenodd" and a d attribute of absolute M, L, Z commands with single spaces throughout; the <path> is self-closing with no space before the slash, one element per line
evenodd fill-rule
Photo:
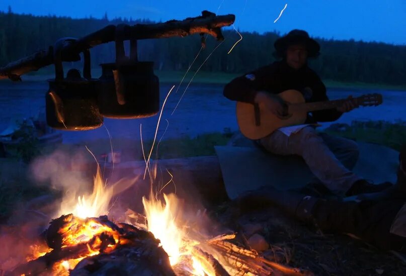
<path fill-rule="evenodd" d="M 73 274 L 84 275 L 84 271 L 90 273 L 98 269 L 108 273 L 113 267 L 123 269 L 122 263 L 126 261 L 130 270 L 174 275 L 168 254 L 158 246 L 159 240 L 150 232 L 124 223 L 116 225 L 106 216 L 87 219 L 79 219 L 72 214 L 61 216 L 50 223 L 44 238 L 50 251 L 19 265 L 6 275 L 37 275 L 44 271 L 57 274 L 61 265 L 66 270 L 70 268 L 69 260 L 80 261 L 83 258 L 77 270 L 75 267 L 71 271 Z M 115 260 L 114 263 L 112 260 Z"/>

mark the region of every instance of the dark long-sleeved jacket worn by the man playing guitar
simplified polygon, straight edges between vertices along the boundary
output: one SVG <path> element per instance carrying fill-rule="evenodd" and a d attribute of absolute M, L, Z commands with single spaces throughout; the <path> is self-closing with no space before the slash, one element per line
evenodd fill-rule
<path fill-rule="evenodd" d="M 225 85 L 224 96 L 232 101 L 254 103 L 257 92 L 261 90 L 279 94 L 288 89 L 303 92 L 305 87 L 311 89 L 309 95 L 304 95 L 306 102 L 329 100 L 326 95 L 326 86 L 313 70 L 307 66 L 295 70 L 282 60 L 234 78 Z M 336 109 L 314 111 L 312 116 L 308 116 L 306 123 L 332 122 L 341 115 L 342 113 Z"/>

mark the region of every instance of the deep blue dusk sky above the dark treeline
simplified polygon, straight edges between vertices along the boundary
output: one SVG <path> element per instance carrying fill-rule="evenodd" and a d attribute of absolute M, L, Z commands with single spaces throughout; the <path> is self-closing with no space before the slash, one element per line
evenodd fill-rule
<path fill-rule="evenodd" d="M 281 10 L 287 4 L 280 19 Z M 15 13 L 84 18 L 182 20 L 208 10 L 234 14 L 241 31 L 304 29 L 313 37 L 355 39 L 406 45 L 406 0 L 0 0 L 0 10 Z"/>

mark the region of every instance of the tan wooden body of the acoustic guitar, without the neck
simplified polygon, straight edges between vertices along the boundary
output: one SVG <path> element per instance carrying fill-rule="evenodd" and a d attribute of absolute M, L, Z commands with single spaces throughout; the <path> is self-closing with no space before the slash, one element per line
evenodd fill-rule
<path fill-rule="evenodd" d="M 288 106 L 289 104 L 302 104 L 305 102 L 302 94 L 293 89 L 283 91 L 278 94 L 278 97 L 284 100 Z M 253 104 L 237 102 L 236 106 L 239 129 L 244 136 L 250 139 L 260 139 L 271 134 L 278 128 L 300 125 L 306 121 L 306 110 L 291 108 L 289 106 L 288 112 L 289 115 L 291 115 L 289 118 L 280 119 L 262 105 L 258 105 L 257 113 L 259 114 L 257 115 L 255 105 Z"/>

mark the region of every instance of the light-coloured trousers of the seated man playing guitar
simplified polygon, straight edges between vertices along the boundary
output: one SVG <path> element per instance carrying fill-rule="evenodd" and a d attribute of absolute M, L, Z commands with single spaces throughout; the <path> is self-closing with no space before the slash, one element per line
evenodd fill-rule
<path fill-rule="evenodd" d="M 317 133 L 307 126 L 290 136 L 277 130 L 260 144 L 275 154 L 300 155 L 311 172 L 336 194 L 344 195 L 361 179 L 351 171 L 359 156 L 358 145 L 352 140 Z"/>

